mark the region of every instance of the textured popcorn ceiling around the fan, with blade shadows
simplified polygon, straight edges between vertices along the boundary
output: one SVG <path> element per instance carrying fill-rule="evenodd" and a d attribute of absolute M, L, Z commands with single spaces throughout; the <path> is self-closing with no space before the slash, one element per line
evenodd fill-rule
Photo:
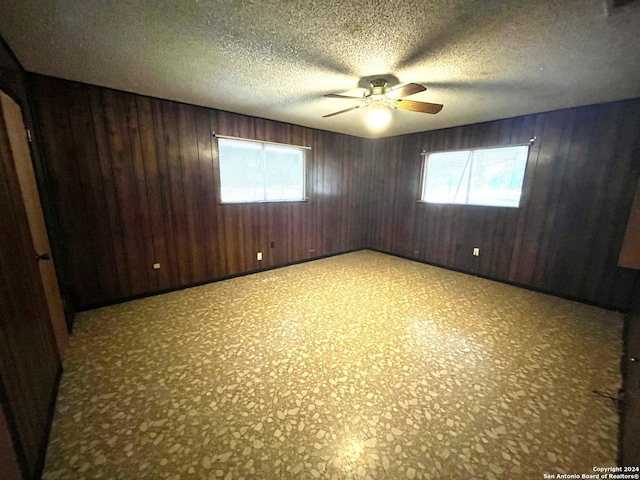
<path fill-rule="evenodd" d="M 640 96 L 638 3 L 8 1 L 0 34 L 32 72 L 372 137 Z M 384 74 L 444 109 L 382 134 L 363 110 L 321 118 Z"/>

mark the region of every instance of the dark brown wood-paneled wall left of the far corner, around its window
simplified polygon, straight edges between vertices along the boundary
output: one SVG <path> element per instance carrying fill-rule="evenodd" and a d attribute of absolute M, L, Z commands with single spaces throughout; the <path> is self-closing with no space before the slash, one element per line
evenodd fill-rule
<path fill-rule="evenodd" d="M 33 86 L 78 308 L 363 245 L 362 139 L 44 76 Z M 311 147 L 309 200 L 220 204 L 212 131 Z"/>

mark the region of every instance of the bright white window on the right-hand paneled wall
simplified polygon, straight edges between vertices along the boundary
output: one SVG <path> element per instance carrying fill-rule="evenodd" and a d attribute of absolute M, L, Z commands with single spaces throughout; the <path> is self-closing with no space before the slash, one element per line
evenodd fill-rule
<path fill-rule="evenodd" d="M 424 154 L 422 201 L 518 207 L 529 145 Z"/>

